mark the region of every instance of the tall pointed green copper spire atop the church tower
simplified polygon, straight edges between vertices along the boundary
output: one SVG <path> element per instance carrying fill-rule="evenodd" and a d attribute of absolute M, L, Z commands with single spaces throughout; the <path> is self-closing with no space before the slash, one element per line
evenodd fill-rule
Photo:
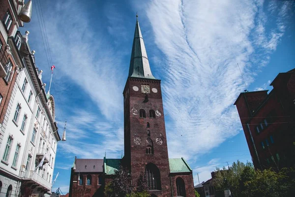
<path fill-rule="evenodd" d="M 137 16 L 128 76 L 155 79 L 150 71 L 148 55 Z"/>

